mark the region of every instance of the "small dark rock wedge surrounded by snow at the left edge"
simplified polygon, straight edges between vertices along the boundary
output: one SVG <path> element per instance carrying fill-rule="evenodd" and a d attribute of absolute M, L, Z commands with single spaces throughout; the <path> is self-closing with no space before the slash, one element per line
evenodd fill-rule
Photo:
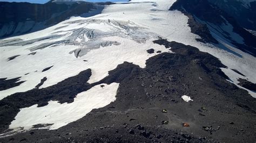
<path fill-rule="evenodd" d="M 25 81 L 19 81 L 19 78 L 21 77 L 12 78 L 10 80 L 6 80 L 7 78 L 0 78 L 0 91 L 17 87 L 18 85 L 25 82 Z"/>

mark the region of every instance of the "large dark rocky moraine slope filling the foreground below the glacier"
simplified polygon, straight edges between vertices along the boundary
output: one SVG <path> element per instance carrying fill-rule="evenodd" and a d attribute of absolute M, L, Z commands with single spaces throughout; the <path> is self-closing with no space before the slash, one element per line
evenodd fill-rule
<path fill-rule="evenodd" d="M 44 106 L 51 99 L 71 103 L 76 94 L 93 85 L 119 83 L 116 101 L 104 108 L 58 130 L 32 130 L 1 140 L 255 141 L 256 99 L 226 81 L 220 70 L 225 66 L 217 58 L 165 39 L 154 43 L 172 47 L 174 53 L 153 56 L 146 68 L 124 62 L 97 83 L 86 83 L 91 76 L 88 69 L 51 87 L 4 98 L 0 101 L 1 131 L 20 108 Z M 183 95 L 193 101 L 185 102 Z"/>

